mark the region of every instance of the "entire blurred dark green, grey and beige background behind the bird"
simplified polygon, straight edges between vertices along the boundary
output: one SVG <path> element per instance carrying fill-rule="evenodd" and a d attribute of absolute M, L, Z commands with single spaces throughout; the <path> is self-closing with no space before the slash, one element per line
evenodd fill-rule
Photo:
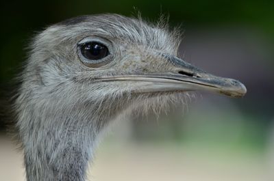
<path fill-rule="evenodd" d="M 34 32 L 73 16 L 138 11 L 182 25 L 186 61 L 245 83 L 244 98 L 197 93 L 168 115 L 117 123 L 99 147 L 90 180 L 274 180 L 274 1 L 14 0 L 0 9 L 2 90 L 12 89 Z M 0 180 L 24 180 L 22 155 L 3 118 L 0 129 Z"/>

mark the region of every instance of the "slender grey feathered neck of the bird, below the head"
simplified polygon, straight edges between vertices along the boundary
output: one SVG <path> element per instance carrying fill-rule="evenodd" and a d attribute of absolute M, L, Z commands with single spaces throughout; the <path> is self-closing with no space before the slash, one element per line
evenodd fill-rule
<path fill-rule="evenodd" d="M 85 180 L 96 138 L 84 135 L 85 130 L 79 134 L 76 129 L 60 130 L 57 126 L 30 135 L 33 139 L 25 143 L 27 181 Z"/>

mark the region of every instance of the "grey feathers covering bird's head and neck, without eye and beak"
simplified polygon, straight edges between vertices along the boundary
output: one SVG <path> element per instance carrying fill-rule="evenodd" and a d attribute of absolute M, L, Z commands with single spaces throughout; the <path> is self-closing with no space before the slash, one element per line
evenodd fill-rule
<path fill-rule="evenodd" d="M 150 65 L 125 62 L 121 70 L 90 71 L 77 60 L 76 44 L 86 36 L 114 42 L 119 49 L 116 61 L 128 52 L 142 60 L 151 50 L 176 54 L 180 41 L 179 31 L 169 31 L 163 21 L 153 25 L 117 14 L 71 18 L 38 33 L 30 44 L 14 105 L 28 181 L 85 180 L 97 135 L 125 107 L 146 112 L 182 100 L 173 93 L 134 95 L 127 84 L 92 83 L 102 74 L 132 73 Z"/>

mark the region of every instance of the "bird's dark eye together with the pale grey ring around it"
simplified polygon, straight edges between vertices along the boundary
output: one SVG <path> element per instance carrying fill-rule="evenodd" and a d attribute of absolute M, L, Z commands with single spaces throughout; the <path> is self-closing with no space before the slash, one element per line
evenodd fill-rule
<path fill-rule="evenodd" d="M 84 38 L 77 44 L 77 54 L 85 66 L 99 68 L 112 61 L 112 43 L 99 37 Z"/>

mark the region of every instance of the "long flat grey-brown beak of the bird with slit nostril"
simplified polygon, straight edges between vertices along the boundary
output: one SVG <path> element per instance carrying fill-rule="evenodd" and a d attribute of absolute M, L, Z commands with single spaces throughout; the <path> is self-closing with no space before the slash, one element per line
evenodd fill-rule
<path fill-rule="evenodd" d="M 214 76 L 172 55 L 162 54 L 162 56 L 173 64 L 171 72 L 108 76 L 101 77 L 100 81 L 142 82 L 142 86 L 136 92 L 206 90 L 230 97 L 242 97 L 247 92 L 245 85 L 240 81 Z"/>

